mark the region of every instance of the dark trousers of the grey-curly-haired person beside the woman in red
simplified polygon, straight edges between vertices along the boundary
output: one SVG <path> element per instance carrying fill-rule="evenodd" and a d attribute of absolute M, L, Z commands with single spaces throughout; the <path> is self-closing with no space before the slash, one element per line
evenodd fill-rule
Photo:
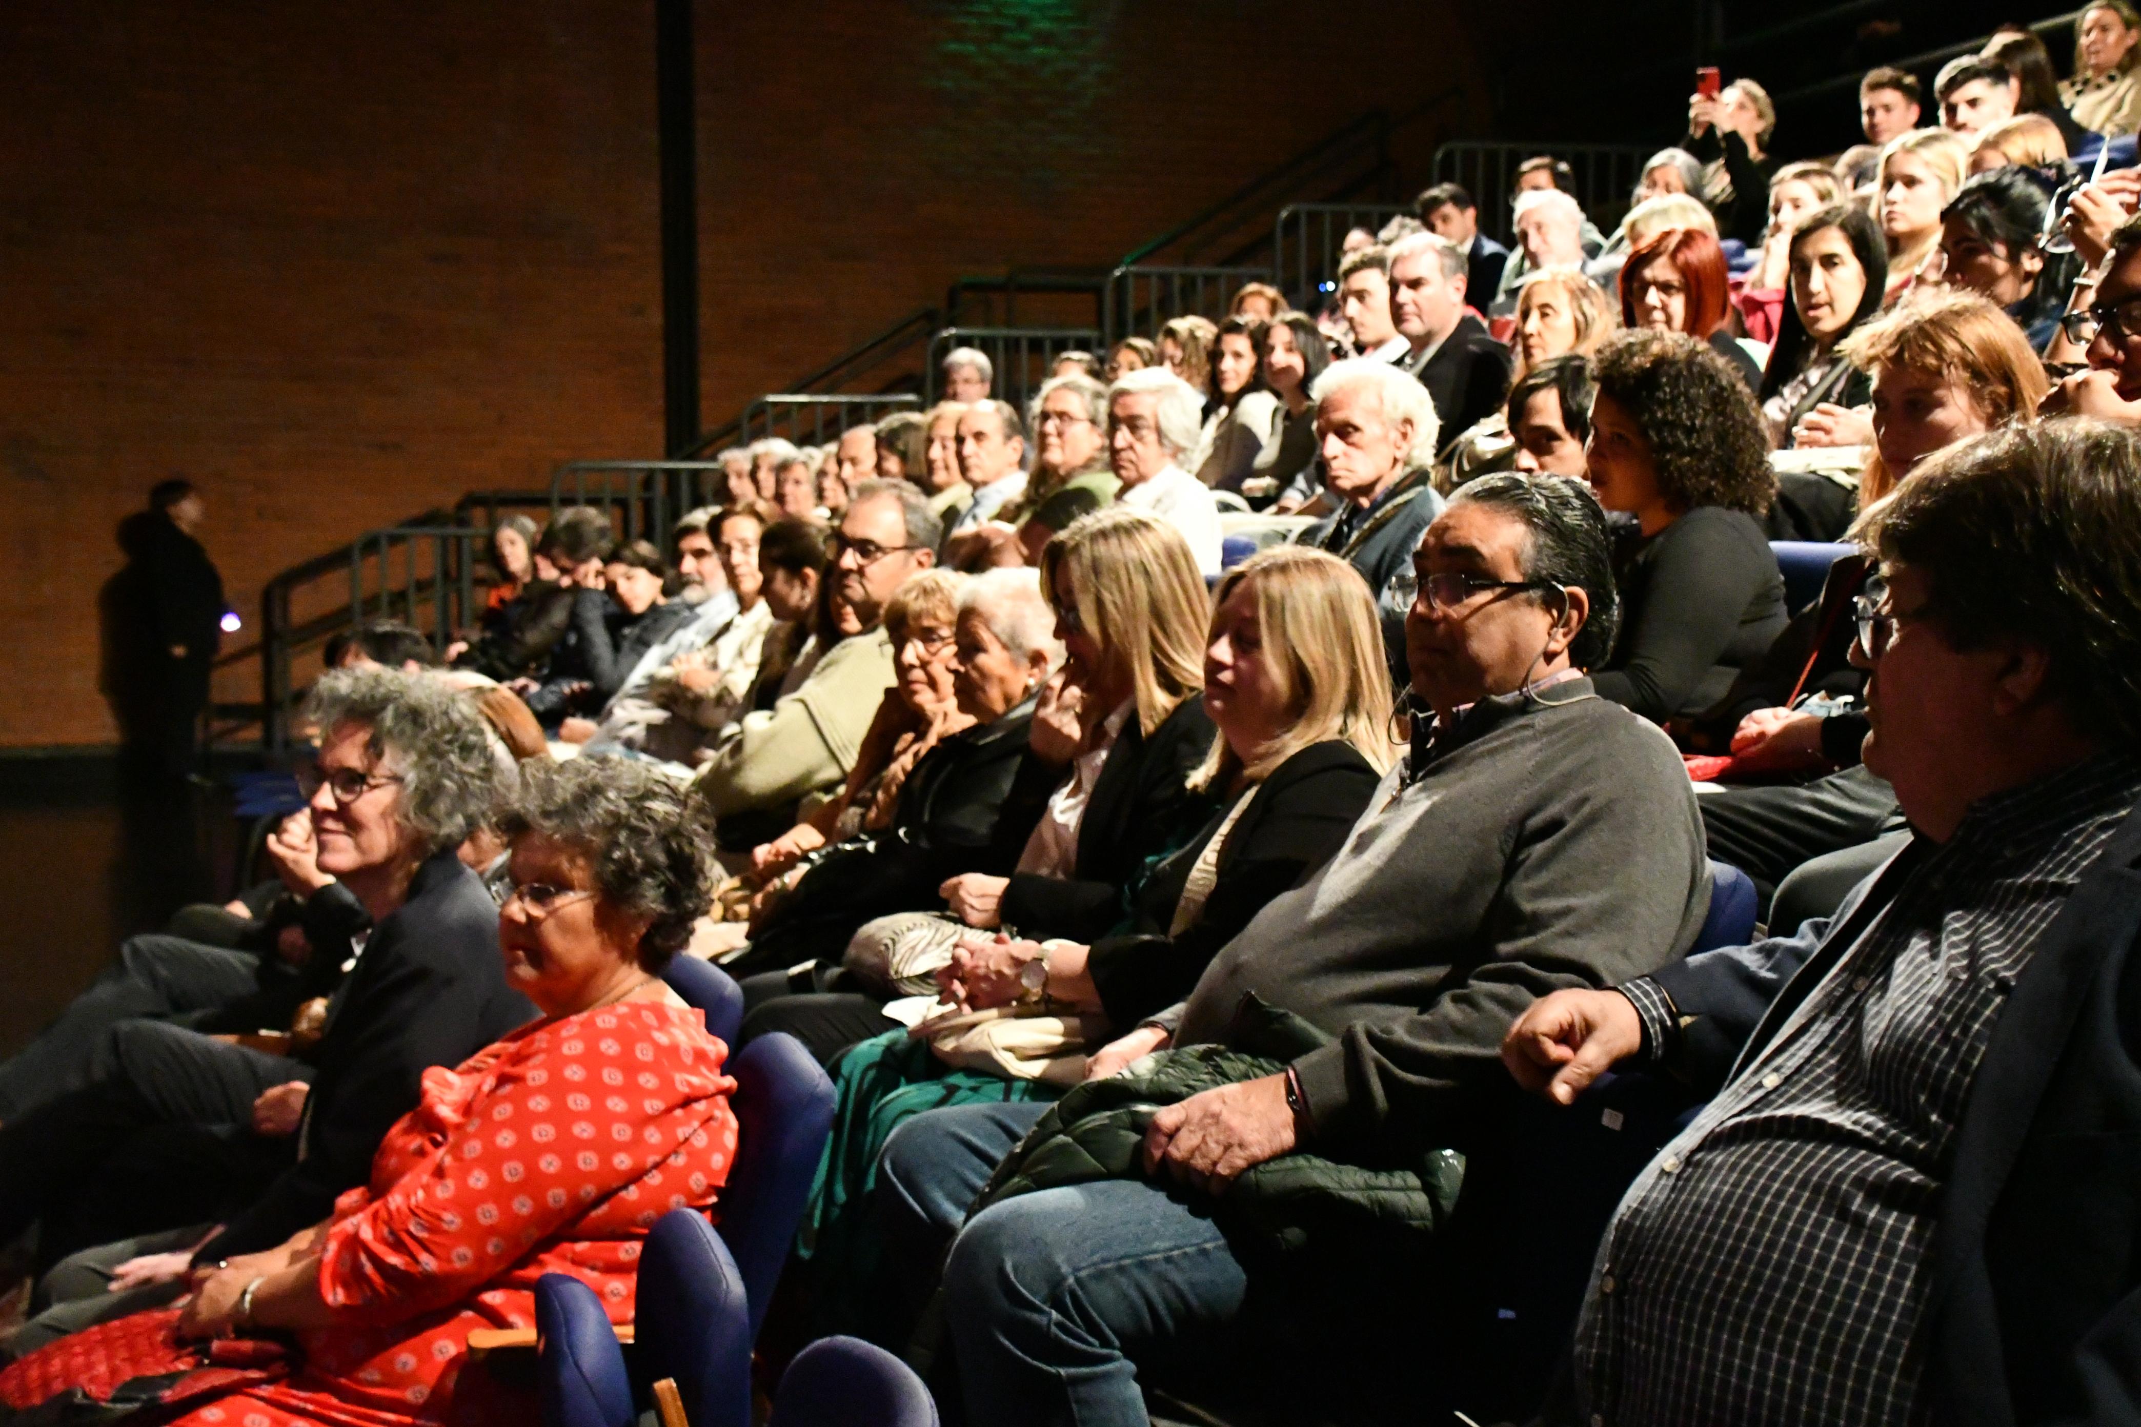
<path fill-rule="evenodd" d="M 0 1127 L 0 1243 L 39 1226 L 39 1267 L 133 1234 L 223 1219 L 289 1168 L 253 1102 L 313 1068 L 161 1021 L 111 1029 L 109 1078 Z"/>

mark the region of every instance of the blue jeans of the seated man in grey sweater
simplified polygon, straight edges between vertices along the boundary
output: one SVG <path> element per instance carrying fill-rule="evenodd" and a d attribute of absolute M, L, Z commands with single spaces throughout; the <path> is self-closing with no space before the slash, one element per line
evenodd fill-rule
<path fill-rule="evenodd" d="M 951 1243 L 944 1318 L 972 1423 L 1145 1423 L 1133 1354 L 1223 1331 L 1248 1277 L 1210 1219 L 1128 1179 L 1041 1190 L 959 1226 L 1045 1104 L 966 1104 L 893 1132 L 893 1234 Z"/>

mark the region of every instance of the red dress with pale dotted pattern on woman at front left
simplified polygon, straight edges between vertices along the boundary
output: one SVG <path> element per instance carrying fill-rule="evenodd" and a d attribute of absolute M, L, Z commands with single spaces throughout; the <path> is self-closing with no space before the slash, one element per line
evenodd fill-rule
<path fill-rule="evenodd" d="M 424 1072 L 373 1181 L 336 1202 L 319 1288 L 340 1322 L 298 1333 L 287 1367 L 255 1346 L 178 1344 L 176 1311 L 64 1337 L 0 1374 L 30 1408 L 71 1386 L 206 1369 L 184 1427 L 403 1427 L 454 1410 L 471 1329 L 535 1324 L 535 1279 L 570 1273 L 632 1322 L 640 1243 L 670 1209 L 704 1209 L 737 1153 L 728 1046 L 696 1010 L 655 1001 L 537 1023 L 456 1070 Z M 259 1348 L 265 1348 L 261 1344 Z M 238 1371 L 227 1367 L 242 1363 Z M 283 1376 L 287 1374 L 287 1376 Z M 229 1378 L 242 1386 L 223 1388 Z"/>

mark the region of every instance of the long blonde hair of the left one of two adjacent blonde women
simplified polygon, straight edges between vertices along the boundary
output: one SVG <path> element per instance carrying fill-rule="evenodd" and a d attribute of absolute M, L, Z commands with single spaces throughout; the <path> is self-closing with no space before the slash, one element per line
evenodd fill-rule
<path fill-rule="evenodd" d="M 1058 571 L 1077 610 L 1056 599 Z M 1100 642 L 1109 663 L 1120 663 L 1145 736 L 1203 689 L 1212 597 L 1190 543 L 1158 516 L 1122 505 L 1079 516 L 1041 548 L 1041 593 Z"/>

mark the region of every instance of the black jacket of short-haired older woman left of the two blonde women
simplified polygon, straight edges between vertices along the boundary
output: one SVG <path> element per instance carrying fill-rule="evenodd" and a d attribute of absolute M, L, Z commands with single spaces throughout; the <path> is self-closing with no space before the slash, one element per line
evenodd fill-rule
<path fill-rule="evenodd" d="M 728 971 L 749 976 L 814 958 L 839 965 L 863 922 L 942 907 L 938 888 L 959 873 L 1006 875 L 1041 815 L 1038 804 L 1008 798 L 1032 727 L 1034 700 L 1026 700 L 929 749 L 899 789 L 893 826 L 818 854 Z"/>

